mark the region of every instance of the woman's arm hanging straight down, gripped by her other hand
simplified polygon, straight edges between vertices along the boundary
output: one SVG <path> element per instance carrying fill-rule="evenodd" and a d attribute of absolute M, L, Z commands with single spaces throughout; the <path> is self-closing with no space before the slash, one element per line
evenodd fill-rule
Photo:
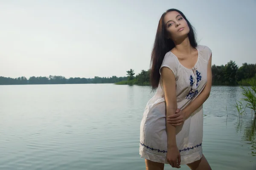
<path fill-rule="evenodd" d="M 167 67 L 161 69 L 163 88 L 166 99 L 166 118 L 174 115 L 177 110 L 175 75 Z M 180 153 L 176 144 L 176 127 L 166 123 L 167 129 L 167 160 L 172 167 L 180 167 Z"/>

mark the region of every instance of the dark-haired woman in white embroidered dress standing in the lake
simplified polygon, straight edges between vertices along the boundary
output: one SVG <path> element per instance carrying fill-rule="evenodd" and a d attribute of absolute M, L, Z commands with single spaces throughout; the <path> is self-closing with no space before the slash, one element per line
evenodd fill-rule
<path fill-rule="evenodd" d="M 211 91 L 211 61 L 211 50 L 197 45 L 184 14 L 166 11 L 151 54 L 151 85 L 157 91 L 140 125 L 140 155 L 147 170 L 163 170 L 164 164 L 211 170 L 202 153 L 202 105 Z"/>

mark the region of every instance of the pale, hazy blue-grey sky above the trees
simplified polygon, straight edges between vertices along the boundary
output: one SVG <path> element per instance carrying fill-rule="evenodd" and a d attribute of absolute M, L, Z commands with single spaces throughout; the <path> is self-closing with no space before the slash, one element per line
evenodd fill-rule
<path fill-rule="evenodd" d="M 150 67 L 158 21 L 185 14 L 212 64 L 256 63 L 256 0 L 0 0 L 0 76 L 122 77 Z"/>

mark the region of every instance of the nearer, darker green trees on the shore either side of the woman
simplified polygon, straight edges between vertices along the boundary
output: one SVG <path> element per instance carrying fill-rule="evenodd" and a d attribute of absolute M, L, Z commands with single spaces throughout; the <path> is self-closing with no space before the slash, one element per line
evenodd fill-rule
<path fill-rule="evenodd" d="M 127 80 L 117 82 L 118 85 L 150 85 L 150 70 L 142 70 L 134 76 L 134 70 L 127 71 Z M 248 85 L 249 79 L 256 79 L 256 64 L 246 62 L 238 67 L 230 60 L 226 65 L 212 65 L 212 85 Z"/>

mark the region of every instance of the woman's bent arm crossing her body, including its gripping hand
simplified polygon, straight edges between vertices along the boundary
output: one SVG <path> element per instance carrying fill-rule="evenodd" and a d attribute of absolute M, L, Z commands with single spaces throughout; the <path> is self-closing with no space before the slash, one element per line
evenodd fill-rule
<path fill-rule="evenodd" d="M 203 103 L 208 99 L 212 88 L 212 54 L 209 57 L 207 65 L 207 83 L 204 90 L 199 94 L 199 96 L 191 102 L 182 111 L 176 111 L 176 114 L 171 115 L 167 118 L 167 122 L 172 125 L 181 125 L 183 122 L 196 111 Z M 178 113 L 177 113 L 178 112 Z"/>

